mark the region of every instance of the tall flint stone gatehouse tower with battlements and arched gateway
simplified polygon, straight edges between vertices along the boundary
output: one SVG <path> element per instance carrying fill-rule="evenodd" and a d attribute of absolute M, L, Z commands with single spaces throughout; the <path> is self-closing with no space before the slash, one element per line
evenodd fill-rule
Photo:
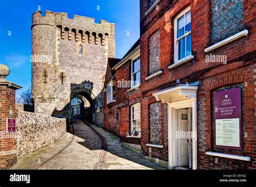
<path fill-rule="evenodd" d="M 107 60 L 116 56 L 114 24 L 67 13 L 32 15 L 32 98 L 35 112 L 70 117 L 69 103 L 90 102 L 93 122 L 103 123 Z"/>

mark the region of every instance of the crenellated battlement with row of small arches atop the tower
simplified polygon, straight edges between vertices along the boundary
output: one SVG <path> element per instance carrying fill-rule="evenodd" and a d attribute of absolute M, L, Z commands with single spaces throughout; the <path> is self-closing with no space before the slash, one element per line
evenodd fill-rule
<path fill-rule="evenodd" d="M 95 44 L 104 45 L 105 38 L 109 35 L 114 35 L 114 24 L 106 20 L 100 20 L 100 23 L 95 23 L 94 18 L 73 15 L 73 18 L 68 18 L 68 13 L 45 11 L 45 16 L 41 11 L 36 11 L 32 15 L 31 29 L 36 25 L 49 25 L 60 29 L 61 38 L 71 40 L 72 36 L 78 41 L 81 38 L 82 42 L 87 41 Z"/>

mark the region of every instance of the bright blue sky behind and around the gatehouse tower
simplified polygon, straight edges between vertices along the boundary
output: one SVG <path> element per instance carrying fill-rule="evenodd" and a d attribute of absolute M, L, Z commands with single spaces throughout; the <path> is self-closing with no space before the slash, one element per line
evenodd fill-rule
<path fill-rule="evenodd" d="M 139 38 L 138 0 L 0 0 L 0 63 L 9 66 L 7 79 L 23 89 L 31 86 L 31 15 L 41 9 L 66 12 L 116 24 L 116 57 L 124 54 Z M 99 10 L 97 10 L 99 8 Z M 129 31 L 129 36 L 127 36 Z M 18 91 L 19 92 L 19 91 Z"/>

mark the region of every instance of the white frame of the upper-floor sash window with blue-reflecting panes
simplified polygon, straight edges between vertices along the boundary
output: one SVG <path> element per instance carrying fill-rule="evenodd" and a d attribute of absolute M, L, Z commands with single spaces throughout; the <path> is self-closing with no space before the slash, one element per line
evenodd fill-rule
<path fill-rule="evenodd" d="M 179 62 L 183 61 L 187 57 L 190 57 L 190 56 L 192 57 L 192 55 L 188 55 L 188 56 L 185 56 L 183 59 L 178 60 L 178 56 L 179 56 L 178 41 L 191 34 L 191 31 L 190 31 L 190 32 L 184 33 L 183 36 L 177 38 L 178 19 L 180 17 L 182 17 L 183 15 L 185 15 L 185 13 L 187 13 L 188 11 L 191 11 L 190 6 L 188 6 L 188 8 L 186 8 L 185 10 L 180 12 L 179 15 L 174 19 L 174 63 L 179 63 Z M 185 19 L 184 19 L 184 21 L 185 21 Z M 192 19 L 191 19 L 191 22 L 192 22 Z M 185 26 L 185 24 L 184 24 L 184 26 Z M 186 42 L 185 42 L 185 45 L 186 45 Z M 186 49 L 186 47 L 185 47 L 185 49 Z M 191 51 L 192 51 L 192 48 L 191 48 Z"/>

